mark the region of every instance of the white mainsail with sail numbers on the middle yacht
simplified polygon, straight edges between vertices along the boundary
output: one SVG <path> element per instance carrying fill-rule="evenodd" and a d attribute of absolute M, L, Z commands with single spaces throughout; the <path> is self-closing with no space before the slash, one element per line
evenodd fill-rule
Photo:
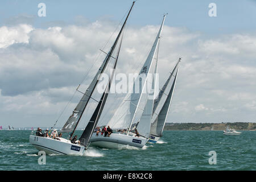
<path fill-rule="evenodd" d="M 125 99 L 122 101 L 121 105 L 115 111 L 113 117 L 110 119 L 108 125 L 113 129 L 122 129 L 122 128 L 131 128 L 131 125 L 134 122 L 135 115 L 137 113 L 138 108 L 144 109 L 147 104 L 147 93 L 145 93 L 145 85 L 147 81 L 148 72 L 151 69 L 152 60 L 154 59 L 156 48 L 158 47 L 160 34 L 162 32 L 164 19 L 166 15 L 164 15 L 162 24 L 160 26 L 158 35 L 156 36 L 155 42 L 151 48 L 148 57 L 139 72 L 139 76 L 136 78 L 133 84 L 132 90 L 129 90 L 129 93 L 126 95 Z M 138 90 L 139 85 L 139 90 Z M 143 93 L 143 94 L 142 94 Z M 144 102 L 143 102 L 144 101 Z M 127 132 L 128 134 L 129 132 Z"/>

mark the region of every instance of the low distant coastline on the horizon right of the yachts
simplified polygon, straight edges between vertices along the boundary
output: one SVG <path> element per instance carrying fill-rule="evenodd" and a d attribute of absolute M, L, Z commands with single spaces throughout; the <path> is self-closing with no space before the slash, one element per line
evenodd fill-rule
<path fill-rule="evenodd" d="M 234 123 L 166 123 L 164 130 L 220 130 L 229 126 L 235 130 L 256 131 L 256 123 L 234 122 Z"/>

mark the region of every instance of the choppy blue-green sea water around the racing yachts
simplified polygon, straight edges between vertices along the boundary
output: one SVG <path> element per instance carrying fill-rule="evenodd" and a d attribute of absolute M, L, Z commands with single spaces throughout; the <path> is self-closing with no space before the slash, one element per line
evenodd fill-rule
<path fill-rule="evenodd" d="M 38 164 L 29 135 L 0 130 L 0 170 L 256 170 L 256 131 L 164 131 L 158 143 L 143 149 L 89 147 L 84 156 L 47 155 L 46 165 Z M 216 165 L 209 164 L 209 151 L 216 151 Z"/>

